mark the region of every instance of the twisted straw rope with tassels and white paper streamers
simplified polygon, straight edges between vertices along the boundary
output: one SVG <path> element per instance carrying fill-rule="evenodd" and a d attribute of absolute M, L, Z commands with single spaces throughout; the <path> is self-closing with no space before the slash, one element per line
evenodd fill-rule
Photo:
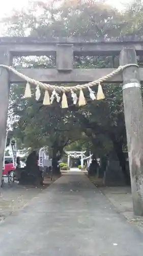
<path fill-rule="evenodd" d="M 109 78 L 112 78 L 112 77 L 118 75 L 124 69 L 126 69 L 128 67 L 133 67 L 133 66 L 138 67 L 138 65 L 133 64 L 133 63 L 132 64 L 127 64 L 125 66 L 119 66 L 118 69 L 112 71 L 110 74 L 108 74 L 106 76 L 103 76 L 103 77 L 101 77 L 101 78 L 99 78 L 95 81 L 85 83 L 85 84 L 81 84 L 81 85 L 78 84 L 77 86 L 72 86 L 72 87 L 54 86 L 54 85 L 51 85 L 51 84 L 47 84 L 47 83 L 37 81 L 35 79 L 32 79 L 28 76 L 23 75 L 22 73 L 18 72 L 16 69 L 14 69 L 13 67 L 10 67 L 10 66 L 0 65 L 0 68 L 5 68 L 8 71 L 13 72 L 15 75 L 19 76 L 20 78 L 22 78 L 23 80 L 25 80 L 27 82 L 26 89 L 25 89 L 25 94 L 24 94 L 25 97 L 31 97 L 32 96 L 31 95 L 31 88 L 30 88 L 30 83 L 31 83 L 31 84 L 34 84 L 37 87 L 37 91 L 36 91 L 36 93 L 37 93 L 36 99 L 37 100 L 40 98 L 39 87 L 46 91 L 45 96 L 44 96 L 44 101 L 43 101 L 43 104 L 45 104 L 45 105 L 51 104 L 54 98 L 56 98 L 56 100 L 59 102 L 60 97 L 59 97 L 58 93 L 62 92 L 63 93 L 62 108 L 68 108 L 67 97 L 66 97 L 65 92 L 71 92 L 74 104 L 76 104 L 77 96 L 76 96 L 75 92 L 80 91 L 79 102 L 78 102 L 79 105 L 85 105 L 85 103 L 86 103 L 82 90 L 87 89 L 87 88 L 90 91 L 90 97 L 92 99 L 98 99 L 98 100 L 99 99 L 104 99 L 105 96 L 103 94 L 102 87 L 101 87 L 100 83 L 108 81 Z M 94 92 L 90 89 L 91 87 L 96 86 L 96 85 L 98 85 L 97 98 L 95 97 Z M 48 91 L 52 91 L 52 95 L 51 95 L 50 99 L 49 99 Z"/>

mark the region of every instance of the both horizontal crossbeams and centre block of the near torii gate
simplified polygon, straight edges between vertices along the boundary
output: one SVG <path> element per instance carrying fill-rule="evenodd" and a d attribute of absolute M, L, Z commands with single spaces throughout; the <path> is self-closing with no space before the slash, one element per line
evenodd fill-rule
<path fill-rule="evenodd" d="M 137 55 L 143 54 L 143 37 L 122 36 L 95 40 L 88 37 L 0 37 L 0 59 L 3 63 L 3 55 L 12 56 L 55 56 L 55 69 L 17 69 L 27 77 L 45 83 L 78 83 L 83 84 L 106 76 L 114 69 L 74 69 L 74 56 L 116 56 L 124 48 L 135 49 Z M 10 58 L 12 60 L 12 58 Z M 11 66 L 11 63 L 7 63 Z M 139 68 L 140 81 L 143 81 L 143 69 Z M 10 73 L 10 82 L 19 83 L 23 79 Z M 110 77 L 108 82 L 123 82 L 122 74 Z"/>

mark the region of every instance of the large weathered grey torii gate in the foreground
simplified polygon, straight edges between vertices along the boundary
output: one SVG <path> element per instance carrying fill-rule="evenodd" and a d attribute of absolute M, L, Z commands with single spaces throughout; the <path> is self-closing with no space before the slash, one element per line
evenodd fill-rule
<path fill-rule="evenodd" d="M 143 72 L 138 68 L 136 53 L 142 55 L 143 41 L 140 38 L 111 38 L 96 41 L 87 38 L 1 37 L 0 64 L 12 65 L 13 56 L 50 55 L 56 56 L 55 69 L 19 69 L 28 77 L 46 83 L 87 83 L 108 75 L 113 69 L 73 69 L 74 55 L 117 56 L 123 74 L 106 76 L 108 82 L 123 82 L 123 101 L 129 152 L 129 165 L 135 215 L 143 216 L 143 119 L 140 81 Z M 119 72 L 118 72 L 119 73 Z M 116 72 L 115 72 L 116 74 Z M 0 68 L 0 165 L 1 175 L 5 150 L 6 125 L 10 83 L 23 80 Z M 78 87 L 79 88 L 79 87 Z M 82 91 L 80 91 L 82 92 Z M 65 96 L 65 95 L 64 95 Z"/>

